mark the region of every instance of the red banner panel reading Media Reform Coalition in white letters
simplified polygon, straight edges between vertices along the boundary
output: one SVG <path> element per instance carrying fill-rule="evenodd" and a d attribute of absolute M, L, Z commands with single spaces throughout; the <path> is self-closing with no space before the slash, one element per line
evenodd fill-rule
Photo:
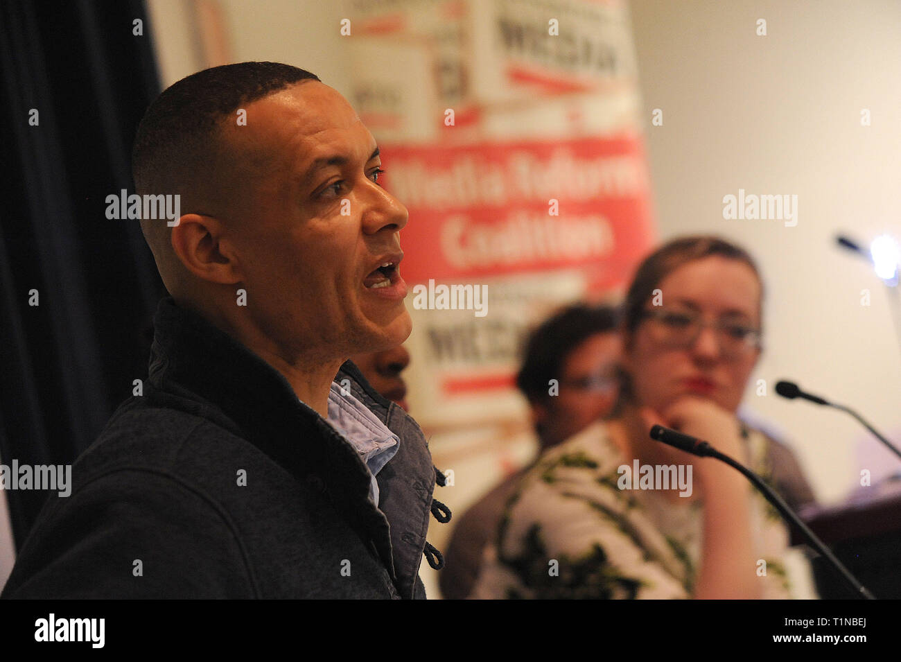
<path fill-rule="evenodd" d="M 466 280 L 578 268 L 618 285 L 651 244 L 638 138 L 384 146 L 384 181 L 410 212 L 403 275 Z"/>

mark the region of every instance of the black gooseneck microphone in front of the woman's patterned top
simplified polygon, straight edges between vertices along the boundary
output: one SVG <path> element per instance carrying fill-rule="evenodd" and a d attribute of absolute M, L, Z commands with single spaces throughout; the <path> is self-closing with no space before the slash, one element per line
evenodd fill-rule
<path fill-rule="evenodd" d="M 842 576 L 845 583 L 851 587 L 854 594 L 864 600 L 876 600 L 876 596 L 871 594 L 866 586 L 860 584 L 857 577 L 851 575 L 851 571 L 842 565 L 842 561 L 835 557 L 829 548 L 824 545 L 823 540 L 817 538 L 814 531 L 811 531 L 804 521 L 801 521 L 801 518 L 798 517 L 796 512 L 782 500 L 782 497 L 779 496 L 773 488 L 764 483 L 763 479 L 751 471 L 751 469 L 742 465 L 741 462 L 737 462 L 733 458 L 730 458 L 728 455 L 724 455 L 724 453 L 721 453 L 717 449 L 714 449 L 714 447 L 706 441 L 696 439 L 684 432 L 664 428 L 662 425 L 655 425 L 651 428 L 651 439 L 668 444 L 669 446 L 673 446 L 680 450 L 686 450 L 687 452 L 702 458 L 716 458 L 725 462 L 730 467 L 737 469 L 743 476 L 751 481 L 751 484 L 760 491 L 760 494 L 763 494 L 767 498 L 769 503 L 773 504 L 776 510 L 778 510 L 787 521 L 790 521 L 798 528 L 798 530 L 804 533 L 806 539 L 810 541 L 810 544 L 814 549 L 829 561 L 829 564 Z"/>

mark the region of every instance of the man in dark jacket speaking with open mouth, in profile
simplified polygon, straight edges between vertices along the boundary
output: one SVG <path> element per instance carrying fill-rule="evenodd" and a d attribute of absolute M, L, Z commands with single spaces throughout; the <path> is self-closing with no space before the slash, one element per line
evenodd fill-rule
<path fill-rule="evenodd" d="M 411 330 L 407 212 L 380 164 L 347 101 L 284 64 L 206 69 L 150 105 L 137 193 L 181 216 L 141 219 L 170 295 L 148 383 L 44 506 L 4 597 L 425 597 L 443 476 L 345 362 Z"/>

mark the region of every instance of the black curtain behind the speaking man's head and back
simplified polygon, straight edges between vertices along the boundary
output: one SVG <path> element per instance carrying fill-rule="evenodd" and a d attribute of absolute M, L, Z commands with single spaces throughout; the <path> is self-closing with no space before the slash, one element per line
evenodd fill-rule
<path fill-rule="evenodd" d="M 0 69 L 0 461 L 68 464 L 146 378 L 165 294 L 138 222 L 105 214 L 159 93 L 145 7 L 3 0 Z M 5 492 L 17 548 L 48 495 Z"/>

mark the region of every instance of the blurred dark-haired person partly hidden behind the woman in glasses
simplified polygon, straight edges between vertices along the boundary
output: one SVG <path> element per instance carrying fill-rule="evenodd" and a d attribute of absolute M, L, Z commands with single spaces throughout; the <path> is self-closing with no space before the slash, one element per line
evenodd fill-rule
<path fill-rule="evenodd" d="M 613 307 L 572 304 L 526 340 L 516 385 L 529 401 L 539 454 L 614 411 L 621 352 L 616 324 Z M 505 502 L 532 464 L 507 476 L 460 517 L 439 577 L 445 599 L 469 595 Z"/>

